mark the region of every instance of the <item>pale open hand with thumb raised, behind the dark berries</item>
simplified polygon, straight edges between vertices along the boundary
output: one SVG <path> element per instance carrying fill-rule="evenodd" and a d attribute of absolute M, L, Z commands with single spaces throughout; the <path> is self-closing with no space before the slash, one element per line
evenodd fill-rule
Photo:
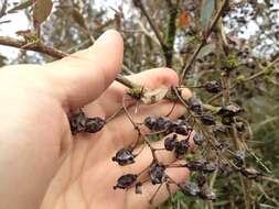
<path fill-rule="evenodd" d="M 124 44 L 115 31 L 106 32 L 92 47 L 45 65 L 17 65 L 0 69 L 0 208 L 6 209 L 146 209 L 157 186 L 147 182 L 142 195 L 135 188 L 114 190 L 127 173 L 139 173 L 152 161 L 144 148 L 136 164 L 118 166 L 115 153 L 137 140 L 137 131 L 121 113 L 96 134 L 71 134 L 69 112 L 84 107 L 88 117 L 109 118 L 122 106 L 127 88 L 114 81 L 122 64 Z M 149 88 L 178 84 L 169 68 L 157 68 L 129 77 Z M 185 96 L 191 92 L 185 90 Z M 131 108 L 135 121 L 164 116 L 168 101 Z M 170 118 L 184 113 L 180 105 Z M 162 142 L 154 144 L 162 147 Z M 175 162 L 160 152 L 164 163 Z M 169 168 L 178 183 L 189 176 L 185 168 Z M 171 193 L 178 188 L 171 186 Z M 162 186 L 153 206 L 168 199 Z"/>

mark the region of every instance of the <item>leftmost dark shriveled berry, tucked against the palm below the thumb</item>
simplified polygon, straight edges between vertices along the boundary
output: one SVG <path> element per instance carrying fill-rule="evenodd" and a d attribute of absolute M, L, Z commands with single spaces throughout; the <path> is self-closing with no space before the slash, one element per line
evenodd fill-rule
<path fill-rule="evenodd" d="M 69 117 L 69 127 L 73 135 L 81 133 L 85 130 L 86 116 L 83 110 L 78 110 Z"/>

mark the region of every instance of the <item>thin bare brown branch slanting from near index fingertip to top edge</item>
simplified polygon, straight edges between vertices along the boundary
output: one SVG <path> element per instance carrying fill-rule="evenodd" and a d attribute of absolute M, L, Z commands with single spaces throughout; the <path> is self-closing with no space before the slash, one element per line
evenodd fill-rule
<path fill-rule="evenodd" d="M 205 34 L 204 34 L 204 36 L 203 36 L 203 38 L 202 38 L 202 42 L 197 45 L 197 47 L 196 47 L 196 50 L 194 51 L 193 55 L 190 57 L 189 62 L 186 63 L 186 65 L 185 65 L 183 72 L 182 72 L 182 74 L 181 74 L 180 84 L 185 79 L 186 74 L 187 74 L 187 72 L 190 70 L 192 64 L 194 63 L 194 61 L 195 61 L 197 54 L 200 53 L 200 51 L 202 50 L 202 47 L 206 44 L 207 38 L 210 37 L 210 35 L 211 35 L 212 31 L 214 30 L 215 25 L 217 24 L 217 22 L 218 22 L 221 15 L 223 14 L 223 12 L 224 12 L 224 10 L 225 10 L 227 3 L 228 3 L 228 0 L 224 0 L 224 1 L 223 1 L 223 3 L 222 3 L 222 6 L 221 6 L 219 10 L 217 11 L 215 18 L 214 18 L 213 21 L 212 21 L 212 23 L 211 23 L 208 30 L 206 30 L 206 32 L 205 32 Z"/>

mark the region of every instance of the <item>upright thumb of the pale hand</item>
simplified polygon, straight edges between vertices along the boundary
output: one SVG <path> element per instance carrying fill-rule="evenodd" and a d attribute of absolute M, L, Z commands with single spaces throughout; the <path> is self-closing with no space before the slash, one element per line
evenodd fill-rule
<path fill-rule="evenodd" d="M 63 105 L 75 110 L 98 98 L 114 81 L 122 57 L 122 37 L 109 30 L 92 47 L 46 66 L 62 90 Z"/>

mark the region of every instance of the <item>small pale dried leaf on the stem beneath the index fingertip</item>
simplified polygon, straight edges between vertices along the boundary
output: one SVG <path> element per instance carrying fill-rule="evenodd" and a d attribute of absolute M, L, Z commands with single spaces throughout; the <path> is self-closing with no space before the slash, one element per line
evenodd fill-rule
<path fill-rule="evenodd" d="M 144 105 L 155 103 L 155 102 L 162 100 L 165 97 L 165 95 L 168 94 L 168 91 L 169 91 L 169 88 L 165 86 L 154 89 L 154 90 L 147 89 L 143 97 L 141 98 L 141 101 Z"/>

